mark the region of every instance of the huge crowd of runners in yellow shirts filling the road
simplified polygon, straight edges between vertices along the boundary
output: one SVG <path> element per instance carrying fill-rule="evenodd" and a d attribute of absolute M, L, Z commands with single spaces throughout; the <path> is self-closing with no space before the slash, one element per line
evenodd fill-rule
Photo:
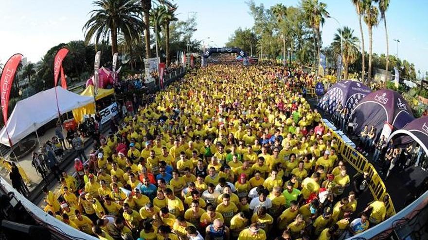
<path fill-rule="evenodd" d="M 188 73 L 100 139 L 46 211 L 102 240 L 345 239 L 385 219 L 357 213 L 337 139 L 294 86 L 314 77 L 276 66 Z M 83 187 L 81 184 L 83 183 Z M 349 191 L 352 189 L 352 191 Z M 345 194 L 346 193 L 346 194 Z M 273 230 L 273 231 L 272 231 Z"/>

